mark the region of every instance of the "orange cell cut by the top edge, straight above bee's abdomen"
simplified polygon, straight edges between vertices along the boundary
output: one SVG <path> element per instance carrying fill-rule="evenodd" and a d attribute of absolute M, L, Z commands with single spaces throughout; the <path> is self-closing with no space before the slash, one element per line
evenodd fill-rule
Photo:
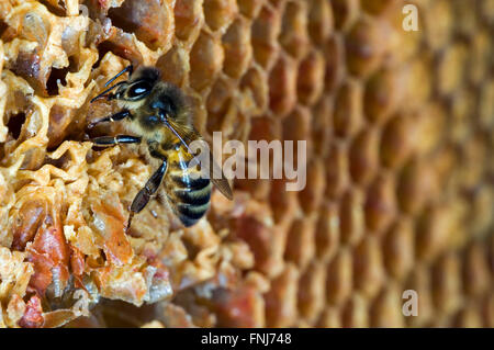
<path fill-rule="evenodd" d="M 198 0 L 177 0 L 175 4 L 175 35 L 182 41 L 194 41 L 201 32 L 204 14 L 202 2 Z"/>

